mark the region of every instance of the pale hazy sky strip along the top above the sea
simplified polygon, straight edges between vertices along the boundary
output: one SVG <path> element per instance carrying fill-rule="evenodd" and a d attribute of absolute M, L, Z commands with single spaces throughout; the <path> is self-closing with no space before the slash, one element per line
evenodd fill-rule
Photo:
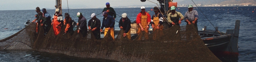
<path fill-rule="evenodd" d="M 117 6 L 136 6 L 136 5 L 155 5 L 150 1 L 157 3 L 157 0 L 149 0 L 141 2 L 140 0 L 62 0 L 62 7 L 69 8 L 97 8 L 106 7 L 106 3 L 110 3 L 110 7 Z M 183 1 L 183 0 L 178 0 Z M 176 1 L 177 2 L 177 1 Z M 39 8 L 54 9 L 55 0 L 0 0 L 0 10 L 30 10 Z"/>

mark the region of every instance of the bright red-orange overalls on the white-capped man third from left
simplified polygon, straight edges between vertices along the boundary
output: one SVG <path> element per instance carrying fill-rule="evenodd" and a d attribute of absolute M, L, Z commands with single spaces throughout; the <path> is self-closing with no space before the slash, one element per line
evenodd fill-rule
<path fill-rule="evenodd" d="M 56 26 L 59 24 L 59 23 L 61 23 L 61 22 L 59 22 L 58 21 L 58 16 L 54 16 L 54 18 L 53 18 L 53 32 L 54 32 L 54 35 L 56 36 L 56 35 L 58 35 L 59 33 L 60 33 L 60 31 L 61 31 L 61 26 L 58 26 L 57 28 L 56 28 Z"/>

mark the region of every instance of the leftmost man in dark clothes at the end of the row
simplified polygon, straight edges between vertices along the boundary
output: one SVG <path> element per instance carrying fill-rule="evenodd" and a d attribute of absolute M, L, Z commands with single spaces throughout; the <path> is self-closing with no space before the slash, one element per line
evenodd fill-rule
<path fill-rule="evenodd" d="M 37 31 L 36 32 L 38 32 L 38 28 L 41 23 L 40 21 L 42 20 L 42 17 L 43 17 L 43 12 L 41 12 L 39 7 L 35 8 L 35 11 L 37 12 L 37 15 L 35 15 L 36 19 L 33 20 L 33 22 L 35 22 L 37 20 Z"/>

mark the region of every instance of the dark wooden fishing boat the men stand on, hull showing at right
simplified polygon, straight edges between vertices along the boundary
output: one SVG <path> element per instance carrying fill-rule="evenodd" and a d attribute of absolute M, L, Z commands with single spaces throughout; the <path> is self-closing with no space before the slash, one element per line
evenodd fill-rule
<path fill-rule="evenodd" d="M 142 2 L 145 2 L 146 0 L 140 0 Z M 166 2 L 168 0 L 162 0 L 159 1 L 159 3 L 163 3 L 161 6 L 161 9 L 165 9 L 165 11 L 169 11 L 169 7 L 170 5 L 176 5 L 177 7 L 177 3 L 173 3 L 173 2 Z M 169 7 L 168 7 L 169 6 Z M 165 13 L 165 15 L 167 15 L 167 13 Z M 167 16 L 165 16 L 165 18 L 167 18 Z M 167 20 L 167 19 L 165 19 Z M 167 23 L 167 22 L 165 22 Z M 136 23 L 134 23 L 136 24 Z M 133 28 L 131 28 L 131 32 L 132 30 L 134 30 L 135 28 L 137 28 L 137 25 L 133 25 L 131 24 L 131 26 Z M 215 30 L 207 30 L 206 26 L 204 27 L 204 30 L 202 31 L 198 31 L 198 35 L 201 37 L 201 39 L 203 40 L 203 42 L 205 43 L 205 45 L 208 47 L 208 49 L 210 49 L 212 51 L 212 53 L 214 53 L 215 55 L 235 55 L 237 56 L 238 53 L 238 35 L 239 35 L 239 27 L 240 27 L 240 20 L 236 20 L 236 26 L 234 29 L 227 29 L 226 33 L 220 32 L 218 31 L 218 27 L 215 27 Z M 131 39 L 135 39 L 138 34 L 136 34 L 136 30 L 134 30 L 135 33 L 131 33 L 132 37 Z M 152 33 L 153 31 L 149 31 L 150 33 Z M 119 33 L 119 30 L 114 30 L 114 34 L 117 35 Z M 101 38 L 104 37 L 104 31 L 101 32 Z M 115 37 L 116 38 L 116 37 Z"/>

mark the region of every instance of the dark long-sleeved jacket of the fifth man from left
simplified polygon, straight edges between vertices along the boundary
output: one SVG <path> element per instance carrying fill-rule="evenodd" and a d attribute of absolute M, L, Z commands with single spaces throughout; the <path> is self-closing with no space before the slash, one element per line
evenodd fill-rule
<path fill-rule="evenodd" d="M 84 18 L 84 16 L 80 19 L 78 19 L 78 25 L 79 25 L 79 29 L 84 31 L 86 30 L 87 31 L 87 21 L 86 19 Z"/>

